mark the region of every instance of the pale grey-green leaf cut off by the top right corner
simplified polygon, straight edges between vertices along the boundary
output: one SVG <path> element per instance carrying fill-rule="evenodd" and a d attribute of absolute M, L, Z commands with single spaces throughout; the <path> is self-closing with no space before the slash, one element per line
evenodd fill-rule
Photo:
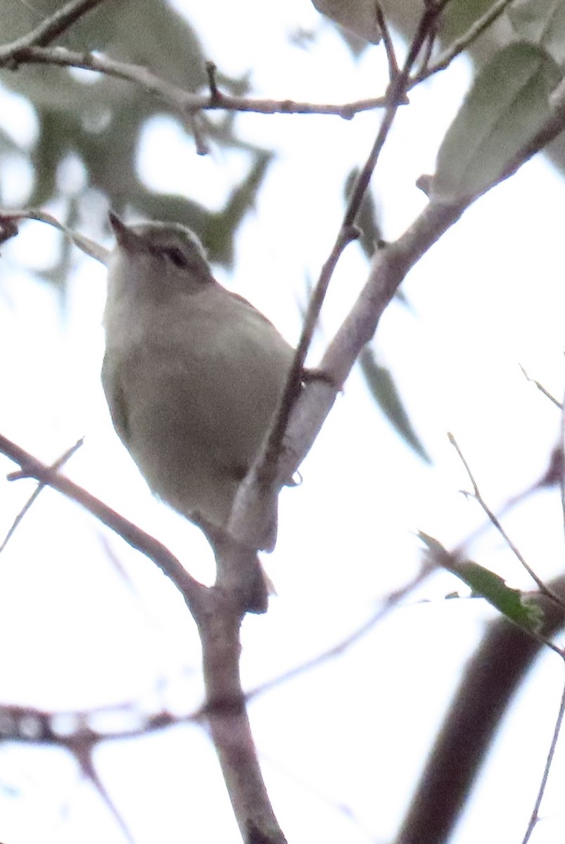
<path fill-rule="evenodd" d="M 558 64 L 565 62 L 563 0 L 514 0 L 508 19 L 519 38 L 543 47 Z"/>

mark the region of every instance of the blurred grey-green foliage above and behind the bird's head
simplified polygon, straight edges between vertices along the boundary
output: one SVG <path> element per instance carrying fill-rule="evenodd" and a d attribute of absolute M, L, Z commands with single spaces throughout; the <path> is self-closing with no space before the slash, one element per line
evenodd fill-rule
<path fill-rule="evenodd" d="M 2 0 L 3 43 L 25 35 L 63 5 L 64 0 Z M 143 65 L 187 91 L 205 89 L 206 56 L 191 25 L 166 0 L 144 0 L 142 5 L 139 0 L 106 0 L 56 43 L 78 51 L 104 51 L 120 61 Z M 211 213 L 188 197 L 155 192 L 141 180 L 136 168 L 141 130 L 149 118 L 171 112 L 139 85 L 110 77 L 87 83 L 67 68 L 46 66 L 0 71 L 0 82 L 30 100 L 37 115 L 38 135 L 29 153 L 34 171 L 29 205 L 45 206 L 66 198 L 69 215 L 80 217 L 82 211 L 88 217 L 92 192 L 101 192 L 118 213 L 128 206 L 139 217 L 174 219 L 190 226 L 204 241 L 211 260 L 231 265 L 234 232 L 253 207 L 270 160 L 268 152 L 236 137 L 231 114 L 215 112 L 213 122 L 206 114 L 195 118 L 205 143 L 243 150 L 248 158 L 247 174 L 233 187 L 225 207 Z M 244 79 L 220 73 L 218 83 L 233 94 L 247 90 Z M 177 113 L 172 116 L 182 121 Z M 191 133 L 187 121 L 185 127 Z M 14 143 L 0 133 L 0 154 L 13 150 Z M 86 172 L 79 195 L 65 193 L 61 165 L 69 154 L 79 158 Z M 95 206 L 102 208 L 103 203 Z M 53 280 L 62 269 L 53 270 Z"/>

